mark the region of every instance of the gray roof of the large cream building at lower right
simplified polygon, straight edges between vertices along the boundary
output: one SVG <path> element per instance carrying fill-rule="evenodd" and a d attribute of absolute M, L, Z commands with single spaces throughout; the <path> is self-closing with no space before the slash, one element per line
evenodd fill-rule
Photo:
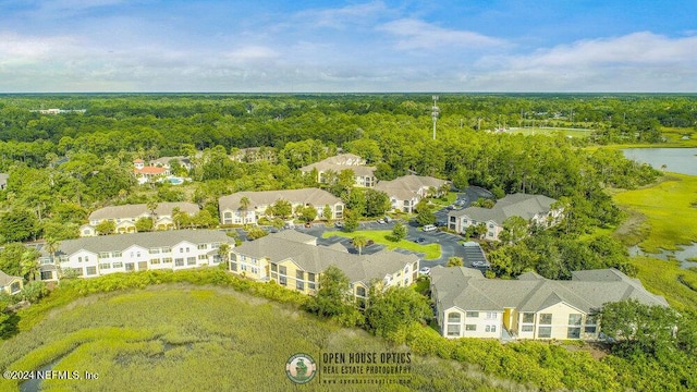
<path fill-rule="evenodd" d="M 431 269 L 431 284 L 442 308 L 463 310 L 539 311 L 561 302 L 584 313 L 608 302 L 637 299 L 647 305 L 668 306 L 661 296 L 646 291 L 641 283 L 616 269 L 578 271 L 570 281 L 555 281 L 527 272 L 517 280 L 486 279 L 465 267 Z"/>

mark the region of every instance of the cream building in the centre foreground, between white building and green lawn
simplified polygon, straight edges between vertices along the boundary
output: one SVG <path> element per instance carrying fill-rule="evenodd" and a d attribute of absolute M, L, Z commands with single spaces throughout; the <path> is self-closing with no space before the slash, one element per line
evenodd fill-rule
<path fill-rule="evenodd" d="M 353 255 L 341 244 L 318 246 L 316 237 L 292 230 L 244 243 L 232 253 L 232 272 L 259 281 L 274 281 L 305 294 L 315 294 L 319 277 L 334 265 L 351 280 L 356 298 L 366 298 L 374 284 L 382 287 L 409 285 L 416 280 L 419 268 L 416 255 L 391 250 Z"/>

